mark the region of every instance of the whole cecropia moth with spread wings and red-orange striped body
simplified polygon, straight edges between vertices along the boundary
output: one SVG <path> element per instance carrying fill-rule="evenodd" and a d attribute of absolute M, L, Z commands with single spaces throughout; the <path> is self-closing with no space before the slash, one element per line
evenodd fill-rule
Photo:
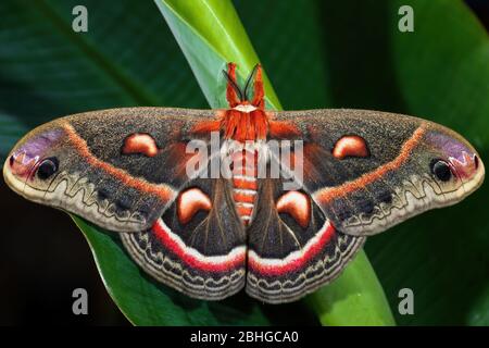
<path fill-rule="evenodd" d="M 112 109 L 41 125 L 8 157 L 5 182 L 118 233 L 142 270 L 181 293 L 246 288 L 272 303 L 337 277 L 367 236 L 482 183 L 476 150 L 441 125 L 265 110 L 260 65 L 243 89 L 235 69 L 226 110 Z"/>

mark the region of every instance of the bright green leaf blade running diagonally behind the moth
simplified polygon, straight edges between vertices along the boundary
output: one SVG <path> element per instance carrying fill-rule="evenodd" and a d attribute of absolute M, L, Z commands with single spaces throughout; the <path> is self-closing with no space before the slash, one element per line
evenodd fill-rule
<path fill-rule="evenodd" d="M 191 4 L 180 0 L 155 1 L 186 53 L 208 101 L 212 107 L 223 105 L 222 99 L 215 101 L 223 96 L 223 78 L 216 78 L 215 73 L 202 71 L 206 72 L 209 66 L 222 69 L 229 61 L 238 63 L 238 66 L 242 64 L 250 71 L 253 64 L 250 65 L 249 62 L 258 61 L 233 4 L 222 0 L 204 0 Z M 206 44 L 209 52 L 196 54 L 193 50 L 202 47 L 202 42 Z M 242 76 L 246 74 L 247 72 Z M 265 89 L 267 92 L 273 90 L 268 80 L 265 80 Z M 272 100 L 276 100 L 275 94 L 272 95 Z M 278 101 L 271 105 L 280 108 Z M 394 324 L 381 286 L 363 251 L 334 285 L 322 288 L 306 303 L 325 325 Z"/>

